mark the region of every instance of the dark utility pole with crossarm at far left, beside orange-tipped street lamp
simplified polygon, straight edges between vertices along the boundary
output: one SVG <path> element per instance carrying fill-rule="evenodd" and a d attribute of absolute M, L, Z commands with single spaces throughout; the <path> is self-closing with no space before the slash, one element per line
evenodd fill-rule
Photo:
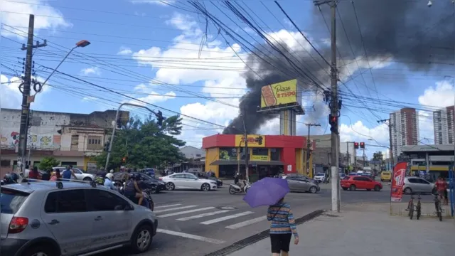
<path fill-rule="evenodd" d="M 18 162 L 21 171 L 23 169 L 23 162 L 26 159 L 26 149 L 27 149 L 27 136 L 28 136 L 28 115 L 30 112 L 30 88 L 31 88 L 31 74 L 32 74 L 32 57 L 33 49 L 47 46 L 47 44 L 36 42 L 36 45 L 33 46 L 33 30 L 35 26 L 35 16 L 31 14 L 28 18 L 28 38 L 27 46 L 22 45 L 21 50 L 26 50 L 26 66 L 25 66 L 25 77 L 23 81 L 23 87 L 21 86 L 19 90 L 22 92 L 22 111 L 21 111 L 21 127 L 19 130 L 19 145 L 18 145 Z"/>

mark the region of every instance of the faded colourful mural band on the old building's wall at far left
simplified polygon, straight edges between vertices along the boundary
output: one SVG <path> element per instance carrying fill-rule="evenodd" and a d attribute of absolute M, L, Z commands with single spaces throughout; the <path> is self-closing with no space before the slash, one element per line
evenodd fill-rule
<path fill-rule="evenodd" d="M 28 134 L 27 145 L 33 145 L 38 147 L 53 147 L 54 146 L 54 134 Z M 0 135 L 1 146 L 8 146 L 11 148 L 16 147 L 19 144 L 19 133 L 11 132 L 9 134 Z"/>

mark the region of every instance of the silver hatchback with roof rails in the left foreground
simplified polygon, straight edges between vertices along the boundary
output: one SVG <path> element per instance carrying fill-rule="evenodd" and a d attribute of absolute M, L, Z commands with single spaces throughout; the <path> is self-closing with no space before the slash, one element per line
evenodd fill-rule
<path fill-rule="evenodd" d="M 93 255 L 149 250 L 158 220 L 148 208 L 88 183 L 39 181 L 1 187 L 1 255 Z"/>

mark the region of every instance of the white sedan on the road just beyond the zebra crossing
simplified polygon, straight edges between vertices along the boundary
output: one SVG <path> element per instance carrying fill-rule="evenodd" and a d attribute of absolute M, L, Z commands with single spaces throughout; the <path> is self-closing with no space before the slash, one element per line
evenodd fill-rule
<path fill-rule="evenodd" d="M 182 173 L 171 174 L 160 177 L 161 181 L 166 182 L 167 190 L 174 189 L 198 189 L 201 191 L 216 190 L 218 188 L 216 181 L 210 179 L 198 178 L 194 174 Z"/>

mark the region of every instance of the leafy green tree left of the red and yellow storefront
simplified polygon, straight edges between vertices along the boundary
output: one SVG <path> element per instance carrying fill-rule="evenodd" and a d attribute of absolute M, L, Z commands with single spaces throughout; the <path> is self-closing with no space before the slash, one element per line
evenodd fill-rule
<path fill-rule="evenodd" d="M 181 134 L 181 121 L 178 115 L 168 117 L 159 127 L 150 117 L 144 121 L 132 117 L 115 133 L 108 169 L 122 165 L 144 168 L 182 161 L 184 157 L 178 147 L 185 142 L 174 137 Z M 97 156 L 97 165 L 105 166 L 106 157 L 107 152 Z M 122 162 L 123 158 L 127 158 L 126 163 Z"/>

